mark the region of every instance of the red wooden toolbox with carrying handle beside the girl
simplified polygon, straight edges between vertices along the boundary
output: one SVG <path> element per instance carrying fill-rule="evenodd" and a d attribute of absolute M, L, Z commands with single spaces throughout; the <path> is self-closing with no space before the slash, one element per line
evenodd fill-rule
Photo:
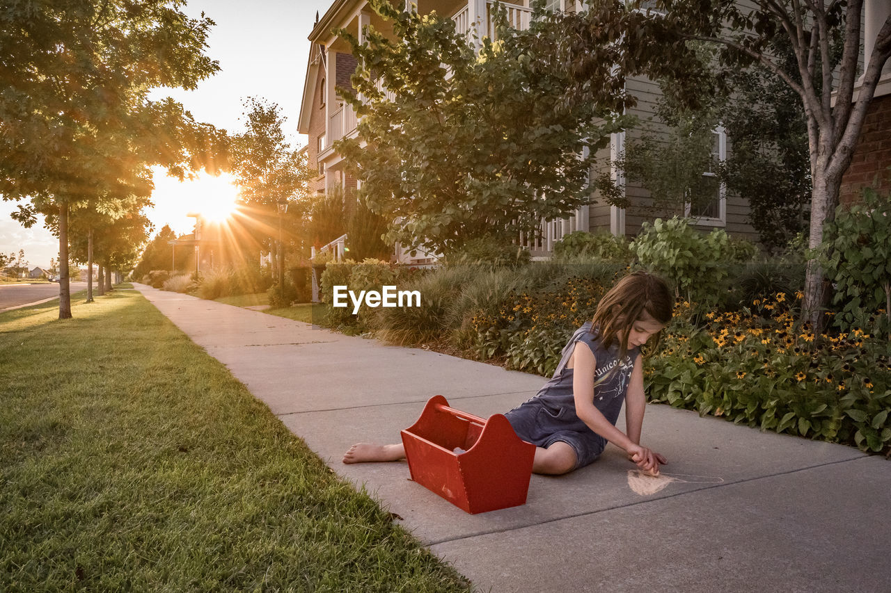
<path fill-rule="evenodd" d="M 526 504 L 535 445 L 501 414 L 484 420 L 435 395 L 402 443 L 412 479 L 470 514 Z"/>

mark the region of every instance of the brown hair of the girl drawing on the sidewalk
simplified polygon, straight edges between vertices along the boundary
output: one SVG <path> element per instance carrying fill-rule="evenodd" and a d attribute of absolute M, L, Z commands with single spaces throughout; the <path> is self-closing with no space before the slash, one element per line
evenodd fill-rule
<path fill-rule="evenodd" d="M 619 358 L 625 358 L 634 321 L 649 317 L 666 325 L 671 321 L 673 309 L 674 297 L 665 280 L 650 272 L 634 272 L 603 295 L 594 312 L 592 331 L 597 332 L 604 348 L 609 348 L 618 335 Z M 650 352 L 656 351 L 661 335 L 659 331 L 650 337 L 647 343 Z"/>

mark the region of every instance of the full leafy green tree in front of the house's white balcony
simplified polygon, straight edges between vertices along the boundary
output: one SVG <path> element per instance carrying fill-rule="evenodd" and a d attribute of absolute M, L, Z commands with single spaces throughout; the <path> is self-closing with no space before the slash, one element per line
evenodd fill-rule
<path fill-rule="evenodd" d="M 360 44 L 342 32 L 359 66 L 340 93 L 362 119 L 358 138 L 335 146 L 387 218 L 388 240 L 447 255 L 474 238 L 535 233 L 590 201 L 593 155 L 625 121 L 614 67 L 625 63 L 624 22 L 588 31 L 597 43 L 576 72 L 555 36 L 580 21 L 542 2 L 524 31 L 496 11 L 496 40 L 478 55 L 451 19 L 370 4 L 394 35 L 368 28 Z"/>

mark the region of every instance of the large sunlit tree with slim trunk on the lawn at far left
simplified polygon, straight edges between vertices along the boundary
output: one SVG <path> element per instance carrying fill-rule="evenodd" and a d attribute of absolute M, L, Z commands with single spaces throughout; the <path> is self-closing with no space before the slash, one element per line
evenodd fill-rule
<path fill-rule="evenodd" d="M 60 319 L 69 318 L 69 208 L 151 191 L 148 169 L 184 175 L 222 139 L 152 87 L 194 88 L 217 71 L 203 51 L 213 21 L 179 0 L 46 0 L 0 12 L 0 194 L 17 217 L 58 215 Z"/>

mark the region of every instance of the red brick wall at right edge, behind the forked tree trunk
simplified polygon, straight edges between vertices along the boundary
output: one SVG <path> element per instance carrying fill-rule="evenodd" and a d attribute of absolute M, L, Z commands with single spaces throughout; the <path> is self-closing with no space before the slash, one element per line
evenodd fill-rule
<path fill-rule="evenodd" d="M 866 112 L 854 158 L 841 178 L 839 201 L 851 204 L 859 200 L 864 187 L 891 189 L 888 167 L 891 167 L 891 95 L 873 100 Z"/>

